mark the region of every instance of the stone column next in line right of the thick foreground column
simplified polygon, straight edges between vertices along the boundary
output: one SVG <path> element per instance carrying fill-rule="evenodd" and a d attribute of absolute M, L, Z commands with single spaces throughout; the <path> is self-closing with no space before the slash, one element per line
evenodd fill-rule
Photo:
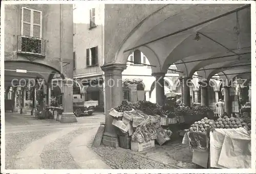
<path fill-rule="evenodd" d="M 156 102 L 159 105 L 163 105 L 164 104 L 164 76 L 165 73 L 153 73 L 153 76 L 156 77 L 156 81 L 155 81 L 155 88 L 156 88 Z"/>

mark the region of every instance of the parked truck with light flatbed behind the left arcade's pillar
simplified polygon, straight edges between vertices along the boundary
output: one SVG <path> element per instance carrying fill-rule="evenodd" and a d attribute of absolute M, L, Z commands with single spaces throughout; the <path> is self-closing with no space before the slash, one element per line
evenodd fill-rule
<path fill-rule="evenodd" d="M 82 101 L 80 94 L 73 95 L 73 111 L 76 116 L 92 115 L 98 101 Z"/>

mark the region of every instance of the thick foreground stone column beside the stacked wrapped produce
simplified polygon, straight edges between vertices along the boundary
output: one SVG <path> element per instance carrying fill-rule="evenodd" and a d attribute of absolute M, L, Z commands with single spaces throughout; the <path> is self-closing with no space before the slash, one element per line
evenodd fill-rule
<path fill-rule="evenodd" d="M 113 117 L 109 115 L 109 110 L 120 105 L 123 100 L 121 73 L 126 69 L 126 64 L 104 64 L 101 69 L 105 76 L 105 132 L 102 143 L 106 146 L 118 147 L 115 126 L 112 125 Z"/>

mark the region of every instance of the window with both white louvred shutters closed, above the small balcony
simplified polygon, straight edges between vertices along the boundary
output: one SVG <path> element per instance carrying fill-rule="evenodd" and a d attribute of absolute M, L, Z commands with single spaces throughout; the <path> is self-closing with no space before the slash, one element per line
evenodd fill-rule
<path fill-rule="evenodd" d="M 42 12 L 22 7 L 22 35 L 39 37 L 42 33 Z"/>

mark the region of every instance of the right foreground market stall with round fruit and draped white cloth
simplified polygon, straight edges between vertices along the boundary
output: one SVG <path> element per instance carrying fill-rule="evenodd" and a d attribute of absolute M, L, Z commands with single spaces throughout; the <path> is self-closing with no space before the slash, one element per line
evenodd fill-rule
<path fill-rule="evenodd" d="M 193 160 L 204 168 L 250 168 L 250 119 L 204 118 L 187 130 L 183 144 L 193 150 Z"/>

